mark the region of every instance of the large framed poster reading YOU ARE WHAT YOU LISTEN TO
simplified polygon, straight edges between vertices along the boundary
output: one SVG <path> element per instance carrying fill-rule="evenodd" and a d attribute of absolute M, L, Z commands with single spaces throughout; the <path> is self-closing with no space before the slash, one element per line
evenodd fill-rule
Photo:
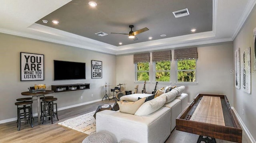
<path fill-rule="evenodd" d="M 44 55 L 20 52 L 20 81 L 44 80 Z"/>

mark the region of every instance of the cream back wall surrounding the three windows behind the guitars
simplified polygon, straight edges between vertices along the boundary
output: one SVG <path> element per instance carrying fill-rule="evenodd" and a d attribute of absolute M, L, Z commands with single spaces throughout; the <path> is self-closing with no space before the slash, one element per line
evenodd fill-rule
<path fill-rule="evenodd" d="M 172 57 L 173 57 L 172 51 Z M 175 61 L 171 63 L 171 85 L 176 85 Z M 233 105 L 233 45 L 232 42 L 216 43 L 213 45 L 198 46 L 198 61 L 196 69 L 197 85 L 185 85 L 185 92 L 188 93 L 191 102 L 198 93 L 204 94 L 224 94 L 228 97 L 231 106 Z M 133 55 L 120 55 L 116 57 L 116 83 L 124 83 L 126 90 L 133 90 L 139 84 L 138 91 L 141 92 L 144 84 L 134 83 L 135 67 Z M 146 83 L 146 91 L 151 93 L 155 84 L 153 79 L 152 62 L 150 62 L 150 82 Z M 168 86 L 169 84 L 158 84 L 157 88 Z M 177 85 L 181 86 L 181 85 Z"/>

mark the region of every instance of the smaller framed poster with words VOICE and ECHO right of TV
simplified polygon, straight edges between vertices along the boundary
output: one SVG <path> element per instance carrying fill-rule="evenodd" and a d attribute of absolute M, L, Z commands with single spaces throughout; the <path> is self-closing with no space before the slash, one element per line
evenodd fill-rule
<path fill-rule="evenodd" d="M 102 61 L 92 60 L 92 78 L 102 78 Z"/>

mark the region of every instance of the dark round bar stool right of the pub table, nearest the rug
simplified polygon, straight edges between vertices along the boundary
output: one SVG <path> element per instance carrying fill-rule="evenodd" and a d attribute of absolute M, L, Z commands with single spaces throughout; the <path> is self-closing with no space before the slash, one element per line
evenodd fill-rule
<path fill-rule="evenodd" d="M 44 117 L 48 117 L 49 120 L 51 119 L 51 122 L 53 124 L 52 121 L 52 117 L 54 117 L 56 115 L 57 119 L 58 119 L 58 111 L 57 111 L 57 103 L 54 103 L 54 101 L 56 101 L 58 98 L 46 98 L 46 99 L 42 99 L 42 101 L 46 102 L 46 104 L 43 105 L 43 123 L 44 123 Z M 56 108 L 56 112 L 54 112 L 54 105 Z M 47 110 L 46 110 L 47 108 Z M 58 119 L 59 120 L 59 119 Z"/>

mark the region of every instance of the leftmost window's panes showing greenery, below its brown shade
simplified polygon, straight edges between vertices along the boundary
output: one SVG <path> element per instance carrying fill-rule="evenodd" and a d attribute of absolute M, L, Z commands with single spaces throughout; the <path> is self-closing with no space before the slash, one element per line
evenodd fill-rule
<path fill-rule="evenodd" d="M 136 81 L 149 80 L 149 63 L 136 63 Z"/>

